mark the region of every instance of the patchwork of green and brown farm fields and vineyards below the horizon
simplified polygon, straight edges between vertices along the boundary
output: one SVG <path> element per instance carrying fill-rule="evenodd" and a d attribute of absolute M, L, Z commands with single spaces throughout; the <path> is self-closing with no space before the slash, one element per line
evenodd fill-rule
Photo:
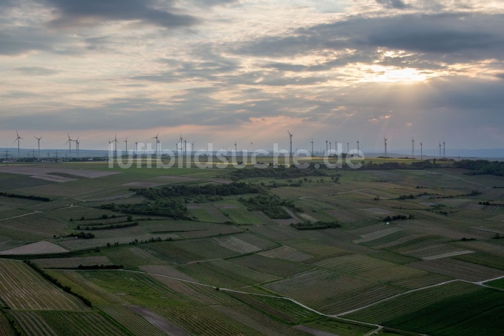
<path fill-rule="evenodd" d="M 490 335 L 503 327 L 502 206 L 478 204 L 504 202 L 502 189 L 487 188 L 504 185 L 500 177 L 448 163 L 301 178 L 143 163 L 0 172 L 0 192 L 12 193 L 0 196 L 0 334 L 363 336 L 387 327 L 378 334 Z"/>

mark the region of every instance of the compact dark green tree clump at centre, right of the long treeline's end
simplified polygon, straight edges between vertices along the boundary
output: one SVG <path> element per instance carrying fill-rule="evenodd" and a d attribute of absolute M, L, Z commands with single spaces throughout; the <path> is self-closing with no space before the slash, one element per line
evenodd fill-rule
<path fill-rule="evenodd" d="M 264 212 L 268 217 L 273 219 L 287 219 L 291 216 L 282 208 L 286 206 L 289 208 L 297 209 L 293 201 L 286 201 L 276 195 L 257 195 L 247 199 L 240 198 L 240 202 L 247 206 L 249 211 L 259 210 Z"/>

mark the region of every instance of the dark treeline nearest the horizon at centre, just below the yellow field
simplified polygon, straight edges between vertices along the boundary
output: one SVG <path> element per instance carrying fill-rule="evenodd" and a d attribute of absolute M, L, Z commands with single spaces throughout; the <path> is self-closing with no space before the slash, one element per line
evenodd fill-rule
<path fill-rule="evenodd" d="M 320 168 L 317 169 L 314 164 L 310 164 L 307 168 L 302 169 L 294 165 L 284 166 L 279 165 L 278 167 L 268 166 L 267 168 L 257 168 L 250 167 L 244 169 L 238 169 L 230 174 L 233 179 L 248 179 L 248 178 L 277 178 L 277 179 L 293 179 L 305 176 L 327 176 L 327 167 L 322 164 Z"/>

